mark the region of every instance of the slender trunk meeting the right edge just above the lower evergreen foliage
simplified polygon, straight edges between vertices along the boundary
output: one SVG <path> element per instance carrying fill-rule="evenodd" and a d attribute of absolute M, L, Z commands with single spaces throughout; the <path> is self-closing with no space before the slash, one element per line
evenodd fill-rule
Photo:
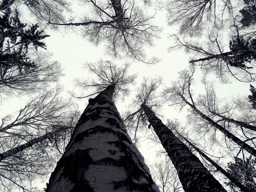
<path fill-rule="evenodd" d="M 181 98 L 183 99 L 184 102 L 186 102 L 186 104 L 188 104 L 196 113 L 198 113 L 198 115 L 200 115 L 203 119 L 207 120 L 209 122 L 210 125 L 212 125 L 213 127 L 217 128 L 218 130 L 220 130 L 222 133 L 224 133 L 224 135 L 229 138 L 230 140 L 232 140 L 233 142 L 235 142 L 237 145 L 239 145 L 241 148 L 243 148 L 245 151 L 247 151 L 248 153 L 252 154 L 253 156 L 256 157 L 256 150 L 251 147 L 250 145 L 244 143 L 242 140 L 240 140 L 238 137 L 236 137 L 235 135 L 233 135 L 232 133 L 230 133 L 229 131 L 227 131 L 227 129 L 225 129 L 224 127 L 222 127 L 221 125 L 219 125 L 218 123 L 216 123 L 215 121 L 213 121 L 211 118 L 209 118 L 208 116 L 206 116 L 204 113 L 202 113 L 201 111 L 198 110 L 198 108 L 195 107 L 195 105 L 192 105 L 191 103 L 189 103 L 185 97 L 181 96 Z"/>

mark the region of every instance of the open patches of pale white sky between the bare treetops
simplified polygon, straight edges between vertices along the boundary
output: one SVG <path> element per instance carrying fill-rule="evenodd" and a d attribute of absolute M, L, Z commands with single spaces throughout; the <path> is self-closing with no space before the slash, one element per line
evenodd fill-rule
<path fill-rule="evenodd" d="M 76 6 L 74 11 L 77 11 L 79 6 Z M 151 10 L 152 12 L 152 10 Z M 154 12 L 153 12 L 154 13 Z M 22 15 L 24 20 L 28 20 L 27 12 Z M 30 20 L 30 19 L 29 19 Z M 169 38 L 173 33 L 177 33 L 175 27 L 169 27 L 166 25 L 166 12 L 157 10 L 155 15 L 154 24 L 164 27 L 162 33 L 160 34 L 161 39 L 155 41 L 154 47 L 147 49 L 147 54 L 157 55 L 159 58 L 162 58 L 162 61 L 158 64 L 151 65 L 150 67 L 132 60 L 113 60 L 116 64 L 122 64 L 125 62 L 131 63 L 130 73 L 138 73 L 137 86 L 140 85 L 140 82 L 143 76 L 161 76 L 163 78 L 163 83 L 166 86 L 171 84 L 172 80 L 177 79 L 177 72 L 186 69 L 189 66 L 189 55 L 185 53 L 182 49 L 168 52 L 168 47 L 172 46 L 175 41 Z M 34 22 L 35 23 L 35 22 Z M 76 31 L 76 28 L 73 28 Z M 68 90 L 73 90 L 73 79 L 75 77 L 81 77 L 86 79 L 90 74 L 87 73 L 85 69 L 82 69 L 82 66 L 85 62 L 93 62 L 99 59 L 108 60 L 111 59 L 108 55 L 105 54 L 104 45 L 99 45 L 95 47 L 90 42 L 83 39 L 79 32 L 76 34 L 74 31 L 70 30 L 68 33 L 64 33 L 60 29 L 59 32 L 52 31 L 47 29 L 46 33 L 51 35 L 51 37 L 46 38 L 45 42 L 47 44 L 47 51 L 53 53 L 52 60 L 57 60 L 61 63 L 63 72 L 65 73 L 64 77 L 61 77 L 61 83 L 64 85 L 65 92 L 64 96 L 67 96 Z M 200 82 L 201 72 L 196 71 L 195 76 L 197 77 L 197 84 L 193 86 L 193 92 L 202 93 L 204 91 L 204 86 Z M 218 82 L 218 79 L 215 79 L 215 76 L 212 76 L 211 79 Z M 133 87 L 134 88 L 134 87 Z M 216 93 L 219 98 L 230 97 L 232 95 L 249 95 L 249 84 L 244 84 L 240 82 L 234 82 L 233 84 L 220 84 L 216 86 Z M 125 111 L 125 107 L 129 105 L 128 101 L 132 99 L 134 93 L 132 92 L 126 102 L 116 102 L 116 106 L 119 112 Z M 16 98 L 0 98 L 0 117 L 7 114 L 12 114 L 13 111 L 18 111 L 26 102 L 24 97 Z M 88 99 L 77 100 L 79 103 L 80 111 L 83 111 L 87 105 Z M 165 116 L 166 119 L 175 119 L 178 118 L 182 122 L 186 122 L 186 111 L 178 112 L 173 107 L 168 107 L 167 105 L 163 106 L 160 114 Z M 152 147 L 152 144 L 148 144 L 148 141 L 140 143 L 140 151 L 145 157 L 146 163 L 153 164 L 157 161 L 155 156 L 155 151 L 159 147 Z M 48 182 L 46 180 L 45 182 Z"/>

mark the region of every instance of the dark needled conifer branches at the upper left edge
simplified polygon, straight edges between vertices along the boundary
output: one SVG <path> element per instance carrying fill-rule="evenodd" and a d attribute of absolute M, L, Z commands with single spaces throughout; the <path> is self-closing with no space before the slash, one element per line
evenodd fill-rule
<path fill-rule="evenodd" d="M 35 67 L 34 63 L 26 56 L 30 45 L 36 50 L 38 47 L 46 49 L 45 43 L 41 40 L 49 35 L 44 35 L 44 30 L 39 30 L 38 24 L 27 26 L 27 24 L 21 23 L 18 14 L 17 9 L 12 14 L 11 9 L 8 8 L 1 16 L 1 80 L 12 66 L 17 66 L 20 73 Z"/>

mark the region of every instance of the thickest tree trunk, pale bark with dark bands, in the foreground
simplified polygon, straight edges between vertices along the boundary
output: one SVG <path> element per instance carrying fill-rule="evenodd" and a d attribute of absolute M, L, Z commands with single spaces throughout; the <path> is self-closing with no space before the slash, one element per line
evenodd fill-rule
<path fill-rule="evenodd" d="M 47 192 L 159 192 L 114 105 L 114 89 L 89 99 Z"/>

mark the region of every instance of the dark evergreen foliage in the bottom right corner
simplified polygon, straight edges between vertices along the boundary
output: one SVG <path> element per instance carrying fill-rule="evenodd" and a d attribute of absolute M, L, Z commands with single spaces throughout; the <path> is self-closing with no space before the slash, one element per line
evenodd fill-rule
<path fill-rule="evenodd" d="M 246 158 L 246 160 L 242 160 L 240 158 L 234 157 L 236 163 L 229 162 L 227 165 L 228 171 L 236 177 L 241 183 L 244 184 L 251 191 L 256 190 L 256 160 L 252 156 Z M 227 186 L 233 187 L 232 182 L 227 182 Z"/>

